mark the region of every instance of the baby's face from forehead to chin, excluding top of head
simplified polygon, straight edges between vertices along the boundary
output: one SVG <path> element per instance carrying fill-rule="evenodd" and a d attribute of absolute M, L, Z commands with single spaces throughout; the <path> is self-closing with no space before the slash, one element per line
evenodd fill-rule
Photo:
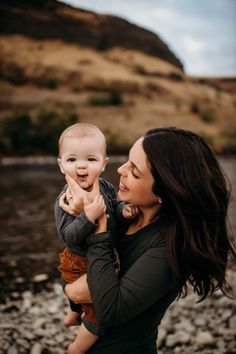
<path fill-rule="evenodd" d="M 90 190 L 108 162 L 104 151 L 104 142 L 96 137 L 65 138 L 58 163 L 62 173 L 70 175 L 81 188 Z"/>

